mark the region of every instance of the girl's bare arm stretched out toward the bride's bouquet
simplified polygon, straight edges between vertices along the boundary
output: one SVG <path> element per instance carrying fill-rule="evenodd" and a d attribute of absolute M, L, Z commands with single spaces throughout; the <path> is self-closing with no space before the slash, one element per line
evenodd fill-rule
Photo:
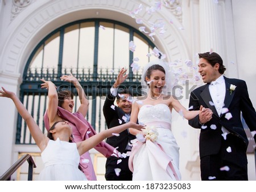
<path fill-rule="evenodd" d="M 91 136 L 89 139 L 86 139 L 82 142 L 77 143 L 77 149 L 79 154 L 82 155 L 86 151 L 89 151 L 93 147 L 95 147 L 98 143 L 102 142 L 102 140 L 114 136 L 113 134 L 121 133 L 122 131 L 126 130 L 127 128 L 132 127 L 133 129 L 141 130 L 144 128 L 143 125 L 138 125 L 134 122 L 128 122 L 119 126 L 112 127 L 112 129 L 107 129 L 101 131 L 100 133 Z"/>

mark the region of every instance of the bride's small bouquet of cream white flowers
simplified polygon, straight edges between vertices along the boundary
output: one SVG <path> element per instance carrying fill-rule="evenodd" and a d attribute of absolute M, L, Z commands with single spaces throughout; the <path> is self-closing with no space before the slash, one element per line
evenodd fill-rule
<path fill-rule="evenodd" d="M 142 133 L 137 134 L 136 137 L 142 143 L 146 142 L 146 140 L 155 142 L 158 139 L 158 131 L 154 126 L 147 126 L 146 129 L 143 129 Z"/>

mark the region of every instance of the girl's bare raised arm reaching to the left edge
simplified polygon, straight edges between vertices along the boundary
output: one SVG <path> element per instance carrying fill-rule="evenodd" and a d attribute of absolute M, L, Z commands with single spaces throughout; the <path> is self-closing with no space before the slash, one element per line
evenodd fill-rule
<path fill-rule="evenodd" d="M 7 97 L 13 100 L 13 103 L 15 104 L 20 116 L 24 119 L 24 121 L 27 123 L 28 129 L 30 130 L 30 133 L 32 135 L 32 138 L 34 138 L 36 144 L 40 148 L 41 151 L 46 148 L 48 143 L 48 138 L 46 135 L 43 134 L 43 132 L 40 130 L 39 126 L 36 124 L 34 118 L 31 116 L 30 113 L 28 113 L 25 106 L 20 102 L 18 97 L 15 95 L 15 93 L 7 91 L 5 88 L 3 88 L 3 91 L 0 90 L 0 96 L 1 97 Z"/>

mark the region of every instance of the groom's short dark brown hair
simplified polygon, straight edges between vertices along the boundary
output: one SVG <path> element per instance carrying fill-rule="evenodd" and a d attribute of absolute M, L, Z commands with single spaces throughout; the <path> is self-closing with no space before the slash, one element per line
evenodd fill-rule
<path fill-rule="evenodd" d="M 220 67 L 218 68 L 218 72 L 220 74 L 224 74 L 226 71 L 226 67 L 223 65 L 222 58 L 219 54 L 215 52 L 206 52 L 206 53 L 199 53 L 199 58 L 207 59 L 207 61 L 210 63 L 210 65 L 214 66 L 216 63 L 220 64 Z"/>

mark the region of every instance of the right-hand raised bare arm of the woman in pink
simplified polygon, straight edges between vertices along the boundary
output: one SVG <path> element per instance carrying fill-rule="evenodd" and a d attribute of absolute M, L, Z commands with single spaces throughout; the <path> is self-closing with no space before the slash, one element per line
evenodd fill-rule
<path fill-rule="evenodd" d="M 81 113 L 85 117 L 88 112 L 89 101 L 88 101 L 88 99 L 86 99 L 86 95 L 85 95 L 84 89 L 82 88 L 81 84 L 75 78 L 75 76 L 73 76 L 72 74 L 63 75 L 63 76 L 61 76 L 60 79 L 63 79 L 65 82 L 71 82 L 76 87 L 76 91 L 79 95 L 79 100 L 81 103 L 77 112 Z"/>

